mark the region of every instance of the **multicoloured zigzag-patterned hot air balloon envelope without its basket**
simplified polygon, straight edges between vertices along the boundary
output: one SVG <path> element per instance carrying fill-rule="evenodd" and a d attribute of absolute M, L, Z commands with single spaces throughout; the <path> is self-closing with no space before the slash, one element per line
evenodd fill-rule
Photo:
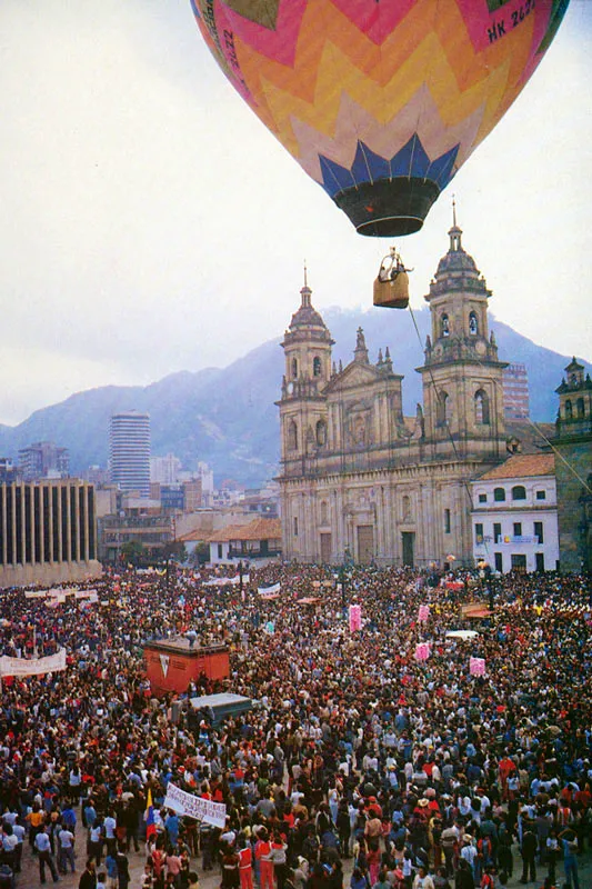
<path fill-rule="evenodd" d="M 241 96 L 361 234 L 418 231 L 569 0 L 192 0 Z"/>

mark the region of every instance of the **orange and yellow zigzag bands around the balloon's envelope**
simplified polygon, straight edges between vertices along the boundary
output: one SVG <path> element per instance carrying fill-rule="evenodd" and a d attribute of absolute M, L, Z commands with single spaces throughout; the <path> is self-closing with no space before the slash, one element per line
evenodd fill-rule
<path fill-rule="evenodd" d="M 423 21 L 418 22 L 418 17 Z M 433 18 L 433 4 L 427 0 L 418 2 L 382 48 L 378 48 L 334 2 L 312 0 L 302 18 L 299 37 L 302 49 L 297 52 L 292 68 L 253 53 L 237 33 L 237 57 L 251 92 L 251 103 L 263 122 L 301 160 L 307 153 L 302 144 L 303 127 L 334 138 L 344 94 L 364 108 L 375 123 L 389 126 L 425 83 L 445 127 L 458 127 L 466 118 L 480 116 L 476 144 L 520 92 L 532 44 L 532 26 L 524 22 L 504 38 L 504 43 L 493 44 L 484 59 L 475 54 L 460 14 L 458 19 L 449 16 L 440 26 Z M 428 19 L 432 27 L 427 32 Z M 415 129 L 422 117 L 415 121 Z M 363 134 L 358 137 L 365 141 Z M 369 146 L 380 153 L 377 146 L 371 142 Z M 427 150 L 432 153 L 429 146 Z M 468 149 L 462 153 L 466 156 Z"/>

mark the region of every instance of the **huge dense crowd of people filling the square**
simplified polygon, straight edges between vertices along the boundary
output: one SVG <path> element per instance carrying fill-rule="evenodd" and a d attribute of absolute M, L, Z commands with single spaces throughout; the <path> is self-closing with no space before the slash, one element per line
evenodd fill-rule
<path fill-rule="evenodd" d="M 67 651 L 63 671 L 2 677 L 0 887 L 19 886 L 34 858 L 41 882 L 77 871 L 81 889 L 197 889 L 210 871 L 223 889 L 516 877 L 583 889 L 589 581 L 516 575 L 488 591 L 462 572 L 298 565 L 251 569 L 240 586 L 211 577 L 110 572 L 89 585 L 94 601 L 0 595 L 0 655 Z M 261 595 L 275 583 L 277 598 Z M 475 599 L 493 609 L 469 618 Z M 449 635 L 469 625 L 471 638 Z M 142 643 L 188 630 L 229 646 L 230 676 L 158 698 Z M 189 698 L 222 690 L 253 709 L 195 720 Z M 225 827 L 165 809 L 171 781 L 224 803 Z M 132 879 L 136 855 L 146 867 Z"/>

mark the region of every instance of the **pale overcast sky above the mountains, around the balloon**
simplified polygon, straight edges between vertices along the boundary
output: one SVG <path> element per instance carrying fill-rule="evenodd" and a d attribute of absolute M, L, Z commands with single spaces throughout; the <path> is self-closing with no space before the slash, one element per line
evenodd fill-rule
<path fill-rule="evenodd" d="M 492 312 L 589 360 L 591 37 L 592 3 L 572 0 L 518 102 L 398 244 L 419 308 L 454 192 Z M 0 84 L 0 422 L 228 364 L 283 332 L 304 259 L 317 308 L 384 312 L 390 242 L 358 236 L 242 103 L 189 0 L 2 0 Z M 397 364 L 398 312 L 384 323 Z"/>

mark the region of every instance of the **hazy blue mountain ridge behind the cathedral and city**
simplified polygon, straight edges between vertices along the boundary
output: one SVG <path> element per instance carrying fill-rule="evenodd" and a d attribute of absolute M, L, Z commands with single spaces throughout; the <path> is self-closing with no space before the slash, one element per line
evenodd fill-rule
<path fill-rule="evenodd" d="M 355 330 L 364 329 L 371 361 L 389 346 L 394 370 L 403 373 L 403 409 L 415 412 L 421 401 L 421 378 L 414 368 L 423 362 L 423 343 L 430 330 L 428 308 L 410 312 L 323 311 L 335 346 L 333 357 L 343 366 L 352 360 Z M 414 329 L 415 319 L 418 332 Z M 531 417 L 553 421 L 554 390 L 571 356 L 536 346 L 490 316 L 500 358 L 526 366 Z M 109 418 L 121 410 L 150 413 L 152 453 L 175 453 L 187 468 L 198 460 L 212 466 L 217 481 L 231 477 L 258 485 L 278 469 L 279 422 L 274 401 L 280 396 L 283 352 L 270 340 L 227 368 L 182 371 L 147 387 L 106 386 L 78 392 L 59 404 L 34 411 L 16 427 L 0 426 L 0 455 L 17 458 L 33 441 L 54 441 L 70 450 L 72 473 L 107 465 Z M 586 370 L 592 368 L 586 362 Z"/>

